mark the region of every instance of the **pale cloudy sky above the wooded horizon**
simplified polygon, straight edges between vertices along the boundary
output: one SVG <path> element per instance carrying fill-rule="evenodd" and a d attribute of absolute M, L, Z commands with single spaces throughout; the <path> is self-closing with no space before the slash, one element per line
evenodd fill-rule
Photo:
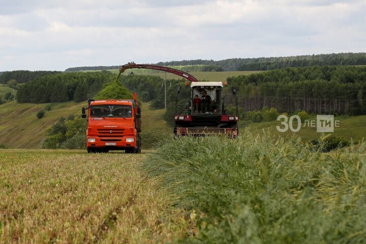
<path fill-rule="evenodd" d="M 0 71 L 366 51 L 366 0 L 0 0 Z"/>

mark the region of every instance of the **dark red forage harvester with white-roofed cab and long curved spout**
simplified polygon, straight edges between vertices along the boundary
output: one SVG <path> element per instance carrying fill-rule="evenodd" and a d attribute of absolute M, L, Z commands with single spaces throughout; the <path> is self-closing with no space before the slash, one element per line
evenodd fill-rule
<path fill-rule="evenodd" d="M 238 135 L 237 127 L 237 96 L 236 89 L 233 89 L 233 95 L 222 96 L 223 84 L 222 82 L 200 82 L 191 74 L 176 70 L 169 67 L 157 66 L 157 65 L 144 65 L 128 63 L 123 65 L 119 71 L 123 73 L 127 69 L 151 69 L 159 70 L 172 74 L 176 74 L 188 81 L 191 81 L 191 92 L 189 96 L 189 103 L 186 104 L 186 111 L 179 112 L 177 110 L 178 98 L 182 97 L 177 89 L 176 95 L 176 112 L 175 112 L 175 126 L 173 133 L 177 136 L 200 136 L 200 135 L 211 135 L 211 134 L 223 134 L 229 137 L 236 137 Z M 189 82 L 186 81 L 186 86 Z M 227 82 L 225 82 L 225 86 Z M 199 101 L 204 101 L 204 92 L 209 93 L 210 101 L 206 102 L 207 106 L 198 105 Z M 196 99 L 196 100 L 195 100 Z M 225 101 L 231 99 L 236 102 L 235 105 L 227 105 Z M 181 106 L 181 105 L 180 105 Z M 235 106 L 236 114 L 227 114 L 226 107 Z"/>

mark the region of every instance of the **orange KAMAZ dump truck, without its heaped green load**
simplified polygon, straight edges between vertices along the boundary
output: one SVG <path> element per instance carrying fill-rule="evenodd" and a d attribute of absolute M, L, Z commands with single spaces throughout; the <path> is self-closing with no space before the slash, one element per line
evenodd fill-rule
<path fill-rule="evenodd" d="M 88 100 L 82 108 L 82 117 L 88 114 L 86 149 L 88 153 L 108 153 L 109 150 L 125 150 L 141 153 L 141 108 L 134 99 Z"/>

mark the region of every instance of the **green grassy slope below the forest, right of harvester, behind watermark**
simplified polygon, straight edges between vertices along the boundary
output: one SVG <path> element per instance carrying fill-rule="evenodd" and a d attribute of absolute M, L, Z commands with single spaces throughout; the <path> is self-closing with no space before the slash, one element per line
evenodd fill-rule
<path fill-rule="evenodd" d="M 312 116 L 309 120 L 316 120 L 316 116 Z M 334 117 L 334 120 L 340 120 L 340 127 L 335 127 L 333 133 L 325 133 L 331 134 L 332 136 L 340 136 L 344 137 L 347 140 L 353 139 L 353 141 L 358 142 L 363 138 L 366 138 L 366 115 L 360 116 L 337 116 Z M 304 125 L 304 121 L 302 121 L 302 125 Z M 270 133 L 271 135 L 279 135 L 284 138 L 291 138 L 292 136 L 298 136 L 303 141 L 309 141 L 312 139 L 318 138 L 321 133 L 316 131 L 315 127 L 301 127 L 300 131 L 294 133 L 288 130 L 287 132 L 279 132 L 276 127 L 281 125 L 280 121 L 269 121 L 262 123 L 252 123 L 248 126 L 241 126 L 241 129 L 247 129 L 251 132 L 255 132 L 257 134 L 266 134 Z M 296 120 L 294 123 L 294 127 L 296 128 Z"/>

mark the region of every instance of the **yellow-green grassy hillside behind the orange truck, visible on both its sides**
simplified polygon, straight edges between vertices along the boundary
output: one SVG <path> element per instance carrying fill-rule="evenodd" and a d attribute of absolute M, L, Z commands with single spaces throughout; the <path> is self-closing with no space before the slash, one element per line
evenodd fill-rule
<path fill-rule="evenodd" d="M 51 111 L 47 111 L 45 116 L 38 119 L 37 111 L 51 105 Z M 69 114 L 81 114 L 81 108 L 87 102 L 75 103 L 54 103 L 54 104 L 31 104 L 9 102 L 0 105 L 0 144 L 8 148 L 41 148 L 41 141 L 47 127 L 51 126 L 59 117 Z M 163 109 L 150 110 L 149 103 L 142 104 L 142 130 L 172 133 L 172 128 L 168 127 L 162 118 Z M 150 133 L 151 134 L 151 133 Z"/>

